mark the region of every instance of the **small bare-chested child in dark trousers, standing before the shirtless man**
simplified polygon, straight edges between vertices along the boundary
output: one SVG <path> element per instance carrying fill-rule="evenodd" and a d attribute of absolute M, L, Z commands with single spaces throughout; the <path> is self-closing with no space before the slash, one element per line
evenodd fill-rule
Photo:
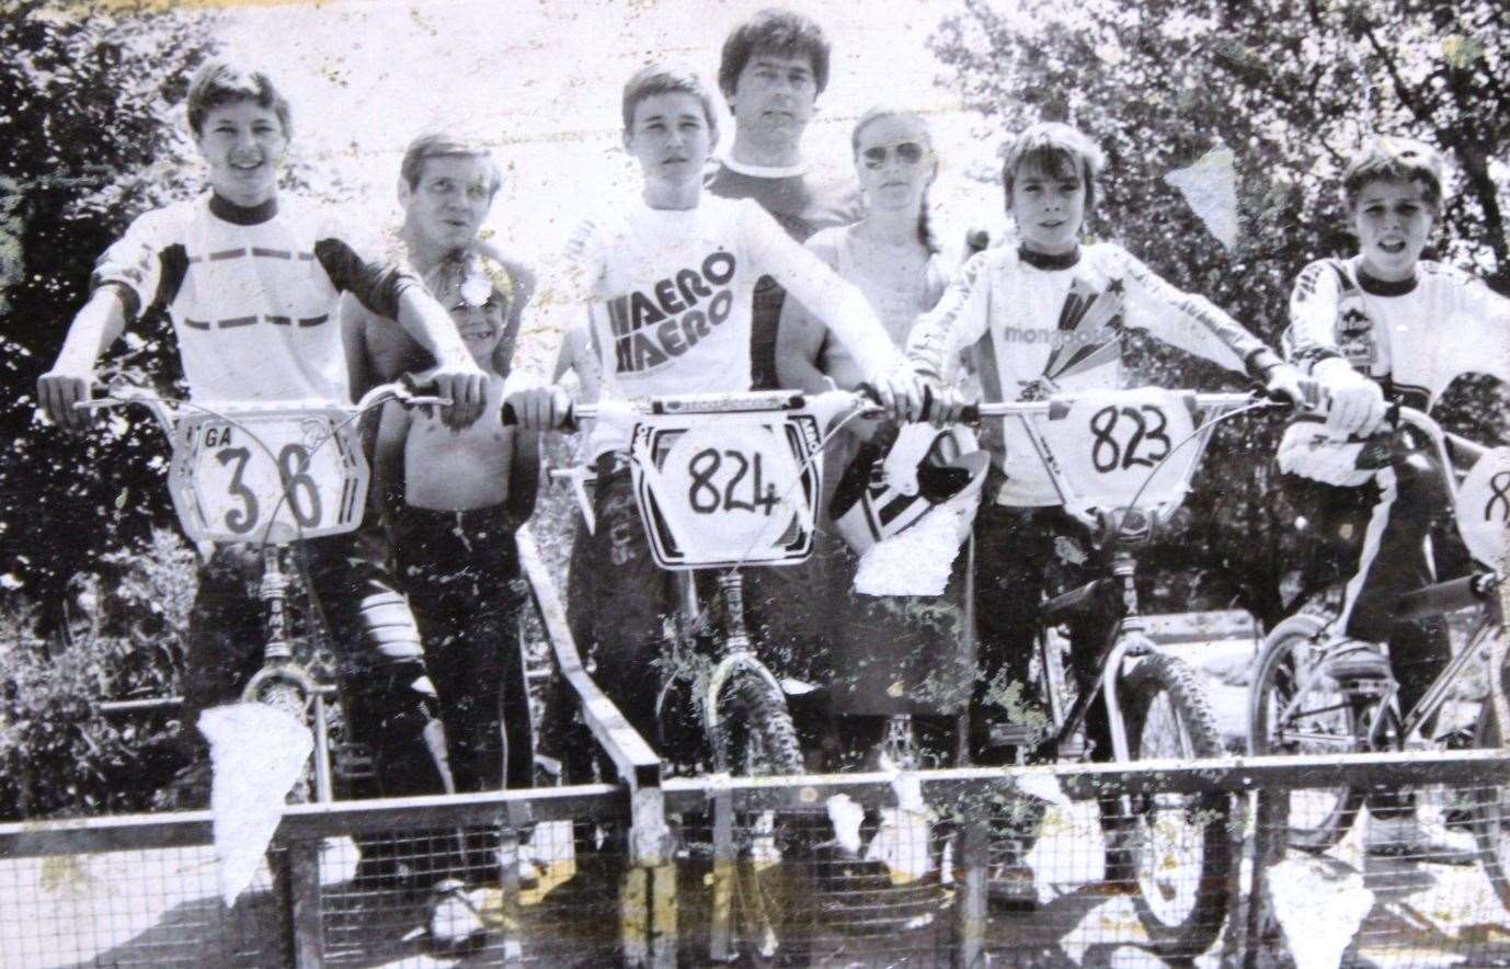
<path fill-rule="evenodd" d="M 376 442 L 379 488 L 402 491 L 385 501 L 399 583 L 424 640 L 458 792 L 528 788 L 535 777 L 513 533 L 535 506 L 539 435 L 501 424 L 497 349 L 513 343 L 507 320 L 516 314 L 489 276 L 507 279 L 486 257 L 458 254 L 426 279 L 488 374 L 483 417 L 451 430 L 433 414 L 390 403 Z M 470 832 L 467 844 L 467 880 L 497 880 L 497 838 Z"/>

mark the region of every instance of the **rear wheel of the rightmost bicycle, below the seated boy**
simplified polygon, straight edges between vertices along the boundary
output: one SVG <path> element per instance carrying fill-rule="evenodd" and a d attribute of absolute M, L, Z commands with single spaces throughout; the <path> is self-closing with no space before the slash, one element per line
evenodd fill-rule
<path fill-rule="evenodd" d="M 1250 753 L 1357 753 L 1367 749 L 1368 731 L 1357 706 L 1348 703 L 1345 709 L 1338 708 L 1336 703 L 1345 702 L 1347 697 L 1335 681 L 1327 676 L 1309 676 L 1315 664 L 1324 660 L 1321 648 L 1324 634 L 1326 623 L 1320 617 L 1302 614 L 1280 622 L 1264 638 L 1253 684 L 1249 688 Z M 1302 700 L 1297 705 L 1299 714 L 1287 717 L 1287 723 L 1276 724 L 1276 714 L 1294 700 L 1296 688 L 1306 681 L 1312 684 L 1308 693 L 1315 693 L 1317 700 Z M 1308 709 L 1318 712 L 1306 714 Z M 1290 724 L 1294 724 L 1296 735 L 1306 732 L 1314 734 L 1314 738 L 1309 743 L 1299 737 L 1284 740 Z M 1284 820 L 1290 847 L 1318 854 L 1342 841 L 1353 827 L 1364 806 L 1365 791 L 1344 785 L 1291 791 L 1280 797 L 1287 800 Z"/>

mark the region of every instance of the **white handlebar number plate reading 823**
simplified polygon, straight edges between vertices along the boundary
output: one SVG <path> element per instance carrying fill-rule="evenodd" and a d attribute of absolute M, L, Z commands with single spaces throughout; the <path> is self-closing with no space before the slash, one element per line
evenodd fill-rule
<path fill-rule="evenodd" d="M 1170 510 L 1185 500 L 1200 457 L 1188 397 L 1158 388 L 1102 391 L 1034 421 L 1034 445 L 1078 516 L 1136 504 Z M 1167 460 L 1166 460 L 1167 459 Z"/>

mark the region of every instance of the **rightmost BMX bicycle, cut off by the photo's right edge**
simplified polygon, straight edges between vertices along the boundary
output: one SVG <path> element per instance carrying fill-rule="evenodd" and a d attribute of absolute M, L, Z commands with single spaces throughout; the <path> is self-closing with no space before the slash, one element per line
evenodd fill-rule
<path fill-rule="evenodd" d="M 1299 613 L 1265 637 L 1249 693 L 1249 749 L 1264 753 L 1361 753 L 1441 746 L 1448 706 L 1465 694 L 1481 697 L 1475 747 L 1502 747 L 1510 726 L 1504 632 L 1504 563 L 1510 552 L 1510 447 L 1486 448 L 1445 433 L 1427 414 L 1398 409 L 1441 460 L 1454 524 L 1474 560 L 1468 577 L 1433 583 L 1401 598 L 1395 614 L 1421 619 L 1471 608 L 1466 644 L 1409 711 L 1376 643 L 1345 638 L 1326 616 Z M 1475 670 L 1487 687 L 1474 690 Z M 1433 731 L 1433 728 L 1438 728 Z M 1510 907 L 1510 788 L 1499 786 L 1468 806 L 1490 881 Z M 1288 844 L 1320 853 L 1351 829 L 1367 791 L 1353 786 L 1288 795 Z"/>

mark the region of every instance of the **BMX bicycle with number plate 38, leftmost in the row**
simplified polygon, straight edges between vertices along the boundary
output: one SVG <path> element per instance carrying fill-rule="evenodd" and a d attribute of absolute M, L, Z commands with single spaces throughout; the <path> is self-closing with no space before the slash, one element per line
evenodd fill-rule
<path fill-rule="evenodd" d="M 370 471 L 356 418 L 388 400 L 445 405 L 403 379 L 368 391 L 356 406 L 331 401 L 192 401 L 112 380 L 80 409 L 142 406 L 172 445 L 168 489 L 180 525 L 193 542 L 252 543 L 261 560 L 263 663 L 242 700 L 282 709 L 314 731 L 307 768 L 288 798 L 334 797 L 326 690 L 294 661 L 288 593 L 300 539 L 355 531 L 367 506 Z M 361 761 L 359 755 L 352 758 Z M 361 764 L 349 765 L 359 771 Z"/>

